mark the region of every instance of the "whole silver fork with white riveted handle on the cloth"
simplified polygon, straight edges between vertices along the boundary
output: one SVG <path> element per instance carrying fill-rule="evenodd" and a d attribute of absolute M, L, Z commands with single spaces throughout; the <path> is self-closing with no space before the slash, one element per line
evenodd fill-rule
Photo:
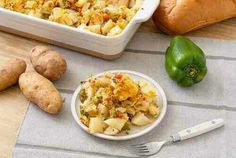
<path fill-rule="evenodd" d="M 211 121 L 207 121 L 196 126 L 184 129 L 179 131 L 176 134 L 170 136 L 169 139 L 161 141 L 161 142 L 150 142 L 143 144 L 135 144 L 131 145 L 131 150 L 139 156 L 149 156 L 158 153 L 164 145 L 168 145 L 171 143 L 180 142 L 182 140 L 186 140 L 195 136 L 199 136 L 201 134 L 210 132 L 216 128 L 219 128 L 224 125 L 224 120 L 214 119 Z"/>

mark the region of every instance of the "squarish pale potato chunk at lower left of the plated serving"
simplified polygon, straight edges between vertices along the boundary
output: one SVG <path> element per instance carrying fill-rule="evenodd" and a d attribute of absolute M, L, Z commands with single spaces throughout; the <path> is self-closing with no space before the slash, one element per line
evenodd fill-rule
<path fill-rule="evenodd" d="M 90 133 L 103 133 L 104 122 L 99 117 L 90 118 L 89 132 Z"/>

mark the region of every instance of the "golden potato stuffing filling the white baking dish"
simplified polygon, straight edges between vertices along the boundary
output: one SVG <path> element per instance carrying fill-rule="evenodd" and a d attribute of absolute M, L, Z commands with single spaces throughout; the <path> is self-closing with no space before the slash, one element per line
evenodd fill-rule
<path fill-rule="evenodd" d="M 0 7 L 88 30 L 120 34 L 143 0 L 0 0 Z"/>

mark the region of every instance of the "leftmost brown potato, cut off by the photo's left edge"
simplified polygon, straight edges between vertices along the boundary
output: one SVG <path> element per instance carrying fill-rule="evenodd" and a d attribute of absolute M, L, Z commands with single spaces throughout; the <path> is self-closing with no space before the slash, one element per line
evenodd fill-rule
<path fill-rule="evenodd" d="M 22 59 L 13 58 L 0 68 L 0 91 L 16 84 L 20 75 L 25 72 L 26 63 Z"/>

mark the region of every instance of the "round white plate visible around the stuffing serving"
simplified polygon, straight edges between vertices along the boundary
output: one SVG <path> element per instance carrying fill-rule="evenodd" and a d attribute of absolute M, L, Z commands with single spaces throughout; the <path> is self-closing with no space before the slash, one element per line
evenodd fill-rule
<path fill-rule="evenodd" d="M 153 87 L 156 88 L 157 91 L 157 102 L 158 104 L 161 106 L 161 114 L 160 116 L 151 124 L 148 124 L 146 126 L 142 126 L 142 127 L 135 127 L 132 126 L 131 130 L 129 131 L 128 135 L 124 135 L 124 134 L 120 134 L 120 135 L 116 135 L 116 136 L 109 136 L 109 135 L 105 135 L 105 134 L 100 134 L 100 133 L 95 133 L 92 134 L 96 137 L 100 137 L 100 138 L 104 138 L 104 139 L 108 139 L 108 140 L 128 140 L 128 139 L 133 139 L 136 137 L 140 137 L 146 133 L 148 133 L 149 131 L 151 131 L 153 128 L 155 128 L 164 118 L 165 114 L 166 114 L 166 110 L 167 110 L 167 99 L 166 99 L 166 95 L 163 91 L 163 89 L 161 88 L 161 86 L 154 81 L 153 79 L 151 79 L 150 77 L 142 74 L 142 73 L 138 73 L 138 72 L 134 72 L 134 71 L 128 71 L 128 70 L 112 70 L 112 71 L 106 71 L 106 72 L 111 72 L 111 73 L 126 73 L 129 74 L 132 79 L 134 80 L 145 80 L 147 81 L 149 84 L 151 84 Z M 98 75 L 95 75 L 96 77 L 103 75 L 103 73 L 100 73 Z M 75 90 L 73 96 L 72 96 L 72 100 L 71 100 L 71 111 L 72 111 L 72 115 L 75 119 L 75 121 L 78 123 L 78 125 L 85 130 L 86 132 L 89 133 L 88 131 L 88 127 L 85 126 L 79 118 L 79 111 L 80 111 L 80 99 L 79 99 L 79 92 L 81 89 L 81 85 Z M 78 113 L 77 113 L 78 112 Z M 91 133 L 89 133 L 91 134 Z"/>

